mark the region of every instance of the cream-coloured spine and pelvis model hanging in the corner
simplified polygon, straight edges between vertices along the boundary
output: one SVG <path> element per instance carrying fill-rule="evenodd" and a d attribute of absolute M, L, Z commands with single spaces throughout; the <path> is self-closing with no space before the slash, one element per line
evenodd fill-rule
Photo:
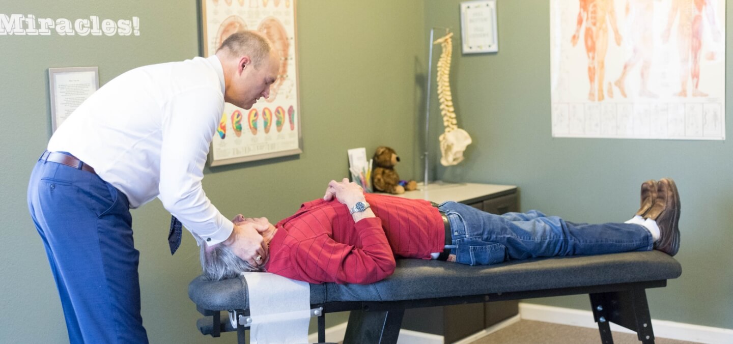
<path fill-rule="evenodd" d="M 438 59 L 438 101 L 441 103 L 441 116 L 445 131 L 438 138 L 441 142 L 441 164 L 443 166 L 457 165 L 463 161 L 463 151 L 471 144 L 471 136 L 458 128 L 456 114 L 451 95 L 450 73 L 451 56 L 453 54 L 453 33 L 438 38 L 432 44 L 440 44 L 443 52 Z"/>

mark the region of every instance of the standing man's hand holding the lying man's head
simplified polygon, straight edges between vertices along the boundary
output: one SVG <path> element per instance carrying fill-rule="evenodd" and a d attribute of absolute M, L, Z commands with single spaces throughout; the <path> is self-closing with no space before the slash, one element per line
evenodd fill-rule
<path fill-rule="evenodd" d="M 221 244 L 229 246 L 229 249 L 232 249 L 237 257 L 250 263 L 251 266 L 259 266 L 268 257 L 268 246 L 265 244 L 262 234 L 260 234 L 268 230 L 268 226 L 267 224 L 243 222 L 243 220 L 244 216 L 242 215 L 235 217 L 232 234 Z M 259 261 L 255 259 L 257 256 L 260 257 Z"/>

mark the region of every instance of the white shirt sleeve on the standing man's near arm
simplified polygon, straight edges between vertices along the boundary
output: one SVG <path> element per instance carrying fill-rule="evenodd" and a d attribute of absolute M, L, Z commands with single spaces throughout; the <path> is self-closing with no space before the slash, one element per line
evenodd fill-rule
<path fill-rule="evenodd" d="M 206 197 L 201 180 L 224 99 L 202 87 L 178 93 L 163 107 L 159 198 L 188 230 L 218 244 L 229 238 L 234 224 Z"/>

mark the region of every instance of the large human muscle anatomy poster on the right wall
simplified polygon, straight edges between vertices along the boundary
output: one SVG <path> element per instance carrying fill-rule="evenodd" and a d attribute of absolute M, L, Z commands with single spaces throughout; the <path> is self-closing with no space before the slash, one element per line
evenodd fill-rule
<path fill-rule="evenodd" d="M 725 139 L 723 0 L 550 0 L 553 137 Z"/>

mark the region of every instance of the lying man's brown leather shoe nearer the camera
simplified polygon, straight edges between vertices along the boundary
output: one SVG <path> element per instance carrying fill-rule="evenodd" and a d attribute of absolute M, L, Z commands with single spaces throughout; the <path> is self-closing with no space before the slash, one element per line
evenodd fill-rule
<path fill-rule="evenodd" d="M 659 240 L 654 248 L 668 255 L 679 251 L 679 194 L 674 180 L 662 178 L 657 183 L 657 198 L 644 218 L 652 219 L 659 226 Z"/>

